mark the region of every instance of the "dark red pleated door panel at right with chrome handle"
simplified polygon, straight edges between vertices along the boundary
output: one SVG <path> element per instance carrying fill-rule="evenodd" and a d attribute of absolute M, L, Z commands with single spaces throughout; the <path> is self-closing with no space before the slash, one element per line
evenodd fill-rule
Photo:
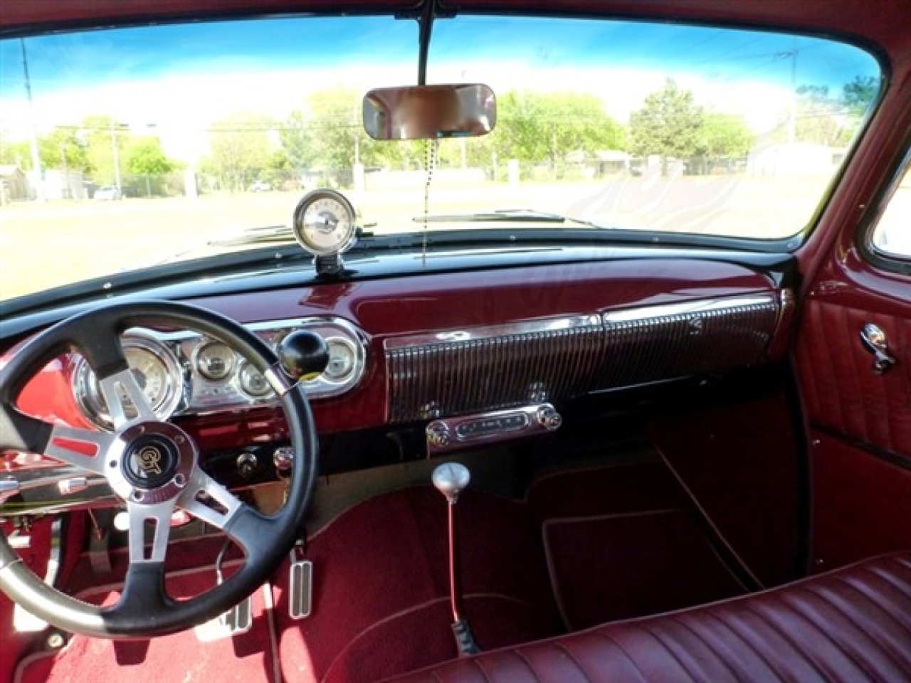
<path fill-rule="evenodd" d="M 813 567 L 911 547 L 911 277 L 845 234 L 806 290 L 795 364 L 809 426 Z M 877 374 L 874 322 L 896 364 Z"/>

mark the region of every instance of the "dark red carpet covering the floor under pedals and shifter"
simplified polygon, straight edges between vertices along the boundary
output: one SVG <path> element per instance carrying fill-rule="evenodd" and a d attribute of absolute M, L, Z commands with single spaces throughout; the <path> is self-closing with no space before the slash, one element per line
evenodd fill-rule
<path fill-rule="evenodd" d="M 457 513 L 465 607 L 478 645 L 557 635 L 562 617 L 584 627 L 739 591 L 683 505 L 654 462 L 554 474 L 525 501 L 467 491 Z M 129 644 L 74 637 L 56 657 L 21 667 L 20 680 L 271 683 L 278 672 L 294 683 L 359 683 L 455 658 L 445 520 L 445 501 L 430 486 L 378 495 L 310 539 L 311 617 L 288 617 L 284 566 L 271 596 L 258 594 L 246 635 L 207 644 L 192 631 Z M 204 545 L 207 556 L 217 547 Z M 191 559 L 192 551 L 179 545 L 175 558 Z M 77 586 L 101 578 L 85 567 L 74 576 Z M 172 595 L 194 594 L 211 577 L 210 569 L 191 572 L 169 586 Z"/>

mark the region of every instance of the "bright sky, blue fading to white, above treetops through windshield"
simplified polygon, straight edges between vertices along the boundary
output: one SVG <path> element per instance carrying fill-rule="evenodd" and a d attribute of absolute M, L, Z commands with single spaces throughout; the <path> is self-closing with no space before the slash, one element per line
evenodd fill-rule
<path fill-rule="evenodd" d="M 88 116 L 137 135 L 154 128 L 190 163 L 230 114 L 281 120 L 332 87 L 366 91 L 417 77 L 417 25 L 390 16 L 298 17 L 109 29 L 0 41 L 0 135 L 26 139 Z M 794 75 L 792 76 L 792 68 Z M 599 97 L 620 122 L 667 77 L 710 110 L 744 117 L 757 134 L 781 125 L 793 85 L 833 96 L 877 76 L 853 46 L 804 36 L 673 24 L 458 16 L 435 23 L 428 83 L 480 82 L 495 92 L 574 91 Z M 785 114 L 783 114 L 785 112 Z"/>

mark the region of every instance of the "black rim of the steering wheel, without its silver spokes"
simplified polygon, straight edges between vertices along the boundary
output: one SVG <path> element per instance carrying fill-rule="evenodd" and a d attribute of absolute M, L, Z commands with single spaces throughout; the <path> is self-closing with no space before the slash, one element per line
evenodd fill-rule
<path fill-rule="evenodd" d="M 36 617 L 73 633 L 107 638 L 162 636 L 225 612 L 261 586 L 288 555 L 312 498 L 317 436 L 302 386 L 281 372 L 275 353 L 255 334 L 236 321 L 186 303 L 115 303 L 61 321 L 26 342 L 0 369 L 0 451 L 46 453 L 55 425 L 20 413 L 15 400 L 26 382 L 48 362 L 75 351 L 87 359 L 99 378 L 128 372 L 119 342 L 112 344 L 111 340 L 119 339 L 132 327 L 157 326 L 186 328 L 220 339 L 272 382 L 281 384 L 277 388 L 294 451 L 287 500 L 275 515 L 261 515 L 241 504 L 234 514 L 225 517 L 225 532 L 243 540 L 245 560 L 234 574 L 200 596 L 178 602 L 167 595 L 163 558 L 160 563 L 131 561 L 118 602 L 118 606 L 128 608 L 87 605 L 47 586 L 21 562 L 0 530 L 0 590 Z M 198 463 L 194 476 L 197 473 L 201 473 Z M 174 505 L 178 505 L 177 500 L 175 497 Z"/>

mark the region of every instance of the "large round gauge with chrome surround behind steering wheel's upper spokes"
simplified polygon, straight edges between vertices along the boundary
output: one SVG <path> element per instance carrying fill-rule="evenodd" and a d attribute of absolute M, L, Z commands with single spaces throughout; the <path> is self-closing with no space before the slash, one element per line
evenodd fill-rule
<path fill-rule="evenodd" d="M 136 377 L 148 404 L 159 420 L 167 420 L 177 411 L 183 399 L 183 369 L 180 362 L 164 343 L 135 331 L 123 335 L 122 345 L 129 369 Z M 72 384 L 79 409 L 88 420 L 101 429 L 113 429 L 114 423 L 101 394 L 97 376 L 85 358 L 77 360 Z M 135 410 L 128 399 L 123 396 L 121 400 L 127 416 L 135 416 Z"/>

